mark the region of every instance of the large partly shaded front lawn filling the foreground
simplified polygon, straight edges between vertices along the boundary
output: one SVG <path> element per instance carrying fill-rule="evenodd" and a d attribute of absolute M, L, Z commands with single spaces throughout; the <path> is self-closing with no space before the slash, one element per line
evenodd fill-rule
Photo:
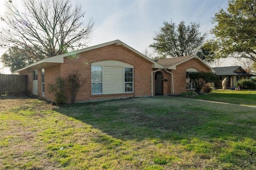
<path fill-rule="evenodd" d="M 1 170 L 256 169 L 256 108 L 164 96 L 0 102 Z"/>

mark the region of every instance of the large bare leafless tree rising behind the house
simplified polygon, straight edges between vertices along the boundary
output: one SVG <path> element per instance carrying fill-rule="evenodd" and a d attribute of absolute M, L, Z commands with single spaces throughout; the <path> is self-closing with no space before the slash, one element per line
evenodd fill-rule
<path fill-rule="evenodd" d="M 22 0 L 24 11 L 6 1 L 6 24 L 0 31 L 2 47 L 18 45 L 35 56 L 52 57 L 83 47 L 94 31 L 92 18 L 84 24 L 82 6 L 72 6 L 70 0 Z"/>

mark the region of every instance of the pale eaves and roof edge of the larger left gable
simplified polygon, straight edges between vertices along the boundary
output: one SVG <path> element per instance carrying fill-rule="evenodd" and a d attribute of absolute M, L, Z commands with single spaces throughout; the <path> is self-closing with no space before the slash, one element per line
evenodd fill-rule
<path fill-rule="evenodd" d="M 26 72 L 26 71 L 33 70 L 33 69 L 45 68 L 45 67 L 48 67 L 48 66 L 53 66 L 53 65 L 56 65 L 56 64 L 64 63 L 64 57 L 68 57 L 68 56 L 71 56 L 71 55 L 76 55 L 78 53 L 83 53 L 85 51 L 90 51 L 90 50 L 93 50 L 93 49 L 98 49 L 100 47 L 105 47 L 107 45 L 122 45 L 125 49 L 131 51 L 132 53 L 138 55 L 138 57 L 140 57 L 140 58 L 148 61 L 149 63 L 151 63 L 152 68 L 163 68 L 163 66 L 160 65 L 159 63 L 156 63 L 154 60 L 146 57 L 145 55 L 136 51 L 132 47 L 126 45 L 122 41 L 115 40 L 115 41 L 110 41 L 108 43 L 103 43 L 103 44 L 95 45 L 95 46 L 92 46 L 92 47 L 87 47 L 85 49 L 80 49 L 80 50 L 72 51 L 72 52 L 69 52 L 69 53 L 56 55 L 54 57 L 48 57 L 46 59 L 42 59 L 42 60 L 37 61 L 35 63 L 29 64 L 24 68 L 16 70 L 15 72 L 22 73 L 22 72 Z"/>

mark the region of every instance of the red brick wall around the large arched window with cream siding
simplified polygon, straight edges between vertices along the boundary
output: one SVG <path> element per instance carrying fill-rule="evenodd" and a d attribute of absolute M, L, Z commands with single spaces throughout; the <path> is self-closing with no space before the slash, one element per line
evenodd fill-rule
<path fill-rule="evenodd" d="M 134 66 L 134 92 L 125 94 L 100 94 L 92 95 L 91 93 L 91 64 L 96 61 L 118 60 Z M 118 45 L 108 45 L 98 49 L 85 51 L 73 56 L 64 57 L 64 63 L 45 68 L 45 98 L 54 100 L 54 96 L 49 91 L 48 84 L 55 82 L 56 77 L 60 76 L 67 82 L 68 74 L 72 70 L 78 70 L 81 74 L 81 79 L 85 80 L 84 86 L 80 88 L 76 102 L 78 101 L 94 101 L 114 98 L 129 98 L 151 95 L 151 63 L 148 63 L 144 58 L 124 49 Z M 38 74 L 39 80 L 39 74 Z M 66 86 L 67 102 L 71 102 L 70 90 Z M 39 93 L 38 93 L 39 95 Z"/>

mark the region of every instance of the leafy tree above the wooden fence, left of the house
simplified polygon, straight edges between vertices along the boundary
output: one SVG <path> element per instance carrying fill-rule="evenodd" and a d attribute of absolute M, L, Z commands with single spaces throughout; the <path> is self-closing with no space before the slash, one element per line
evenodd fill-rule
<path fill-rule="evenodd" d="M 28 64 L 44 59 L 43 54 L 38 55 L 38 57 L 34 56 L 30 48 L 24 47 L 20 49 L 17 45 L 14 45 L 1 56 L 1 61 L 5 67 L 10 67 L 10 71 L 14 72 Z M 36 49 L 34 50 L 36 51 Z M 38 52 L 38 54 L 40 54 L 40 52 Z"/>

